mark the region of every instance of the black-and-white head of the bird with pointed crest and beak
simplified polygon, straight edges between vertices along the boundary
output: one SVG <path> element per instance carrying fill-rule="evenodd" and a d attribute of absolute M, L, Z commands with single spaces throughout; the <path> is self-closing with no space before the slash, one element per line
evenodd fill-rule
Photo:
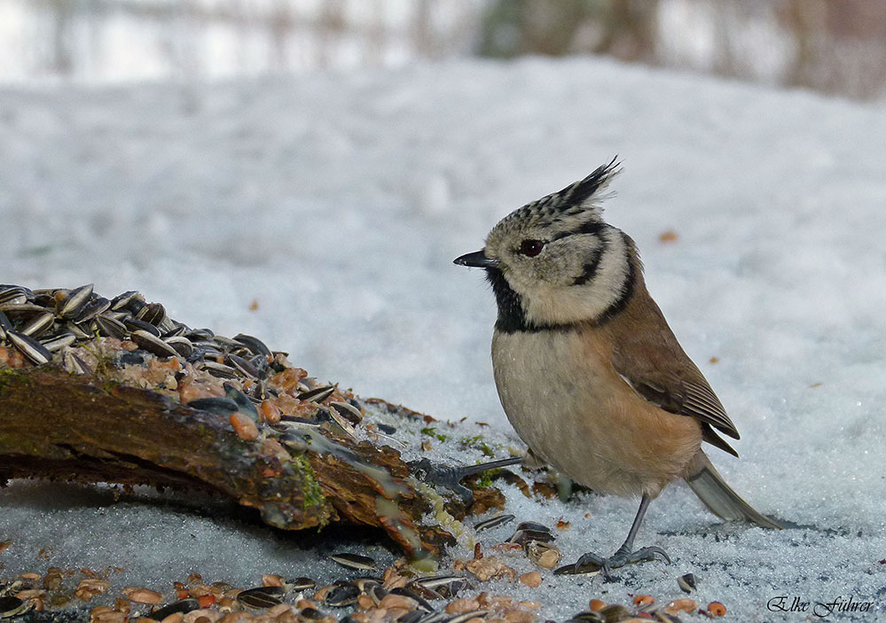
<path fill-rule="evenodd" d="M 601 322 L 630 299 L 640 270 L 633 241 L 603 222 L 613 160 L 562 191 L 522 206 L 490 231 L 482 251 L 455 263 L 486 269 L 499 331 Z"/>

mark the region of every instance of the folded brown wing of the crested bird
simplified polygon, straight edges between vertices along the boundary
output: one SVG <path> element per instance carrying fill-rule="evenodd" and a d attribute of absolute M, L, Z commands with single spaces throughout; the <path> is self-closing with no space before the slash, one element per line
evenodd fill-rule
<path fill-rule="evenodd" d="M 735 424 L 702 371 L 680 347 L 662 311 L 639 278 L 631 301 L 604 325 L 610 331 L 612 365 L 647 401 L 702 423 L 702 439 L 734 456 L 738 453 L 713 429 L 740 439 Z"/>

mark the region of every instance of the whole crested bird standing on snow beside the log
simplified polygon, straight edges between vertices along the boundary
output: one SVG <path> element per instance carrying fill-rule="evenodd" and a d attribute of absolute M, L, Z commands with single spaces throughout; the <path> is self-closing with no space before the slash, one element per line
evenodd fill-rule
<path fill-rule="evenodd" d="M 594 491 L 640 498 L 612 556 L 576 561 L 576 572 L 591 565 L 607 578 L 656 555 L 670 564 L 664 549 L 634 540 L 649 502 L 678 479 L 719 518 L 781 528 L 702 449 L 738 456 L 721 435 L 739 432 L 649 295 L 637 245 L 603 220 L 616 160 L 514 210 L 481 251 L 454 261 L 485 269 L 491 284 L 493 377 L 527 456 Z"/>

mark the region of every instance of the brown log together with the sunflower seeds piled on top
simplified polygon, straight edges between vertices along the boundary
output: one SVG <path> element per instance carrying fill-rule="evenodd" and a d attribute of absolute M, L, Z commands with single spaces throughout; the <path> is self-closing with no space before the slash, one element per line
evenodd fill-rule
<path fill-rule="evenodd" d="M 192 330 L 135 292 L 0 285 L 0 484 L 199 489 L 287 530 L 374 526 L 412 556 L 453 542 L 421 523 L 431 506 L 399 453 L 353 436 L 355 397 L 306 376 L 257 339 Z"/>

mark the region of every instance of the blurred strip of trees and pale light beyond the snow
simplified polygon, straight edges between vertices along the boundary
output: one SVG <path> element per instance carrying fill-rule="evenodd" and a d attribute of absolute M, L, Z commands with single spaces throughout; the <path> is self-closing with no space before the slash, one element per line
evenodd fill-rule
<path fill-rule="evenodd" d="M 600 54 L 886 97 L 882 0 L 0 0 L 0 82 Z"/>

